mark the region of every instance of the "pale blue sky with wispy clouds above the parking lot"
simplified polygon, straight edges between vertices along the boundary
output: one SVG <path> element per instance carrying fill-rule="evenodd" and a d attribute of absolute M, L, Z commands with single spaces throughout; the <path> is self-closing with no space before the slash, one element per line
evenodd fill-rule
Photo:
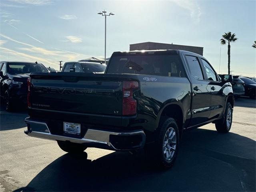
<path fill-rule="evenodd" d="M 58 61 L 104 58 L 106 10 L 107 58 L 140 42 L 204 47 L 204 57 L 227 73 L 224 32 L 231 44 L 232 74 L 256 76 L 256 0 L 1 0 L 0 60 L 38 61 L 58 69 Z"/>

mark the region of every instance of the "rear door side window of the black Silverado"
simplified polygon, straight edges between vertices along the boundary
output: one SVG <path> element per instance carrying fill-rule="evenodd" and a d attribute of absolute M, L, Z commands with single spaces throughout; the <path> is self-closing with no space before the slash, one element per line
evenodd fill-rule
<path fill-rule="evenodd" d="M 186 59 L 188 61 L 188 66 L 190 68 L 190 72 L 192 76 L 198 80 L 203 80 L 203 73 L 200 67 L 200 63 L 197 57 L 186 55 Z"/>

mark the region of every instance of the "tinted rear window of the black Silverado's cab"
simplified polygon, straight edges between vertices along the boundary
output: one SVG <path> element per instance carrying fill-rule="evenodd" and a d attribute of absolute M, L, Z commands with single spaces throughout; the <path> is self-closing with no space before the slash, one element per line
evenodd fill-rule
<path fill-rule="evenodd" d="M 178 55 L 113 56 L 108 65 L 107 73 L 184 77 Z"/>

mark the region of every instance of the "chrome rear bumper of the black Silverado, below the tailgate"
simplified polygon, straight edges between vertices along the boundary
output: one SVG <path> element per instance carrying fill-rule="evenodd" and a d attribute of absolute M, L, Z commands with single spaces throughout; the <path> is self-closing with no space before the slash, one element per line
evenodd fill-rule
<path fill-rule="evenodd" d="M 127 132 L 111 132 L 104 130 L 94 130 L 88 129 L 83 138 L 72 138 L 68 136 L 54 135 L 50 133 L 50 130 L 45 122 L 38 122 L 35 120 L 30 120 L 29 117 L 25 119 L 25 123 L 28 125 L 28 130 L 25 130 L 24 133 L 31 137 L 48 139 L 48 140 L 59 140 L 59 141 L 70 141 L 74 143 L 80 144 L 90 144 L 90 146 L 94 146 L 93 144 L 100 144 L 98 148 L 108 148 L 111 150 L 134 150 L 140 149 L 144 147 L 146 136 L 143 130 L 136 131 L 127 131 Z M 130 149 L 122 149 L 118 148 L 116 144 L 110 142 L 110 135 L 116 136 L 141 136 L 141 142 L 139 145 L 134 146 Z M 97 147 L 94 146 L 94 147 Z"/>

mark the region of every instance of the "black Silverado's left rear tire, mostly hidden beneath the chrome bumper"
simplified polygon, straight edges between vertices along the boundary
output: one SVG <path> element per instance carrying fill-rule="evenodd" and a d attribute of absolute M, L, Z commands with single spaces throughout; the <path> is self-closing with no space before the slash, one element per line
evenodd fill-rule
<path fill-rule="evenodd" d="M 63 151 L 72 154 L 82 153 L 87 148 L 86 146 L 83 146 L 79 143 L 72 143 L 67 141 L 57 141 L 57 143 Z"/>

